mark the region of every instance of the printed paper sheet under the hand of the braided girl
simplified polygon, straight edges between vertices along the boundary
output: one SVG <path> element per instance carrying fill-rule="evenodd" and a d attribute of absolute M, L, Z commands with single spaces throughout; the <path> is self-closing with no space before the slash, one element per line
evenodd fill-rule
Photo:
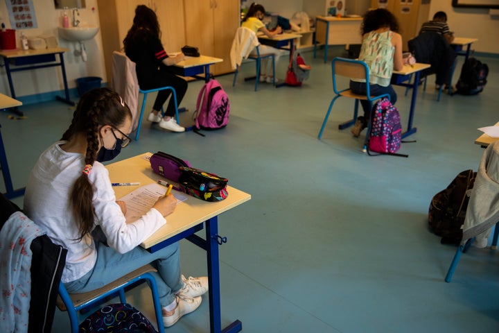
<path fill-rule="evenodd" d="M 146 214 L 150 207 L 152 207 L 160 196 L 164 196 L 166 187 L 159 185 L 155 182 L 152 184 L 144 185 L 130 192 L 119 200 L 124 201 L 127 207 L 127 214 L 125 215 L 127 222 L 132 222 L 139 219 L 140 216 Z M 182 201 L 187 200 L 186 196 L 179 193 L 171 192 L 177 199 L 177 205 Z"/>

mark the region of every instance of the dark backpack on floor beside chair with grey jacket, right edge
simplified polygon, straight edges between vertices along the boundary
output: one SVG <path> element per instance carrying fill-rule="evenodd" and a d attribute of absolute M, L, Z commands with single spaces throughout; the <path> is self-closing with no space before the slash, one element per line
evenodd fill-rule
<path fill-rule="evenodd" d="M 462 239 L 462 225 L 466 217 L 469 196 L 476 172 L 465 170 L 457 174 L 443 191 L 435 194 L 428 210 L 428 223 L 432 232 L 442 237 L 441 244 L 458 245 Z"/>

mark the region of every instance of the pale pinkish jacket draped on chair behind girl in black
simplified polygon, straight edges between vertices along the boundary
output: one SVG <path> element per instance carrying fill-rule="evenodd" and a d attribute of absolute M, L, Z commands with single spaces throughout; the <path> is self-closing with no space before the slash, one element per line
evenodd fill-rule
<path fill-rule="evenodd" d="M 132 111 L 132 130 L 136 130 L 139 123 L 139 80 L 135 62 L 123 52 L 113 52 L 112 86 Z"/>

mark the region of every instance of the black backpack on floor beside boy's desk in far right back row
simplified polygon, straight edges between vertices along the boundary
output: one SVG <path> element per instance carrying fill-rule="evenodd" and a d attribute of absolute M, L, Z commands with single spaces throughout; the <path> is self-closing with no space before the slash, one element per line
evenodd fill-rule
<path fill-rule="evenodd" d="M 468 58 L 462 65 L 461 75 L 457 81 L 457 94 L 475 95 L 482 92 L 487 84 L 489 66 L 476 58 Z"/>

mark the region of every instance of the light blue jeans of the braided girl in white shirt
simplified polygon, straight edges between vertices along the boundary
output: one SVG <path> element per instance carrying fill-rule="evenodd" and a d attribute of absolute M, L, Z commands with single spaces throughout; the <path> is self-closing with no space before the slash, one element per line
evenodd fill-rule
<path fill-rule="evenodd" d="M 152 264 L 157 272 L 154 275 L 161 307 L 175 301 L 175 293 L 184 287 L 180 276 L 180 250 L 178 242 L 150 253 L 137 246 L 128 253 L 117 253 L 114 249 L 96 241 L 97 261 L 89 273 L 75 281 L 64 283 L 69 293 L 85 293 L 113 282 L 141 266 Z"/>

